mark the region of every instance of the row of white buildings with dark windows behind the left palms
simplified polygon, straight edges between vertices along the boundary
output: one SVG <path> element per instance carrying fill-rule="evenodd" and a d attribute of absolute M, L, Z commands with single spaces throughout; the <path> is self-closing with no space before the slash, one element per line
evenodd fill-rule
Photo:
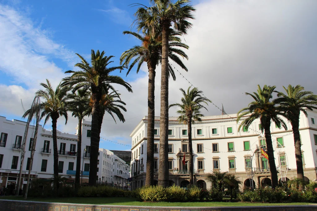
<path fill-rule="evenodd" d="M 26 122 L 18 120 L 6 120 L 0 116 L 0 186 L 7 186 L 17 182 L 20 169 L 21 144 L 26 127 Z M 49 126 L 48 126 L 49 127 Z M 82 121 L 81 142 L 81 183 L 88 183 L 90 163 L 90 121 Z M 75 128 L 78 129 L 77 127 Z M 78 131 L 78 130 L 77 130 Z M 34 137 L 34 126 L 29 126 L 25 144 L 25 157 L 23 164 L 23 184 L 26 184 L 28 176 L 28 160 L 30 158 L 31 141 Z M 57 131 L 57 148 L 59 160 L 59 175 L 66 177 L 68 183 L 74 183 L 76 173 L 77 134 L 68 134 Z M 85 151 L 86 149 L 86 151 Z M 114 184 L 114 162 L 117 156 L 106 149 L 99 149 L 98 178 L 104 177 L 104 182 Z M 97 161 L 98 162 L 98 161 Z M 117 169 L 117 168 L 116 168 Z M 36 151 L 31 169 L 31 178 L 53 177 L 53 138 L 52 131 L 38 128 Z M 122 175 L 127 180 L 127 175 Z"/>

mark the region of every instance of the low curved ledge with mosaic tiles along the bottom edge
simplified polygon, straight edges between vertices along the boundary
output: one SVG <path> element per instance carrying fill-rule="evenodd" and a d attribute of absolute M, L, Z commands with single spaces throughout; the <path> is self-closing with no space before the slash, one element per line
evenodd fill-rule
<path fill-rule="evenodd" d="M 316 205 L 250 207 L 146 207 L 0 200 L 2 211 L 317 211 Z"/>

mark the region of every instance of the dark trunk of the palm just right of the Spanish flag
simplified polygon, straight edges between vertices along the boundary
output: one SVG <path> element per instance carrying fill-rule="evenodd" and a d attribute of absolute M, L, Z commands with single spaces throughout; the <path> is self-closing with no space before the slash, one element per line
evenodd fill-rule
<path fill-rule="evenodd" d="M 271 131 L 270 131 L 271 121 L 267 120 L 267 122 L 268 123 L 264 126 L 264 135 L 266 139 L 266 146 L 268 148 L 268 164 L 270 166 L 272 188 L 275 188 L 278 186 L 278 180 L 277 180 L 277 171 L 276 171 L 275 160 L 274 160 Z"/>

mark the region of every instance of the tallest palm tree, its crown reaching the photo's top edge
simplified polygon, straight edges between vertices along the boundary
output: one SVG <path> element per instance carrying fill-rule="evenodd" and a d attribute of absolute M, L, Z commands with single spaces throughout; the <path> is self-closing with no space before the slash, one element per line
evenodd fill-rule
<path fill-rule="evenodd" d="M 168 73 L 169 73 L 169 33 L 173 24 L 174 30 L 186 34 L 194 19 L 195 9 L 189 0 L 151 0 L 151 7 L 138 8 L 136 15 L 137 29 L 149 31 L 151 34 L 162 34 L 162 65 L 161 65 L 161 115 L 160 115 L 160 154 L 159 154 L 159 185 L 168 186 Z"/>

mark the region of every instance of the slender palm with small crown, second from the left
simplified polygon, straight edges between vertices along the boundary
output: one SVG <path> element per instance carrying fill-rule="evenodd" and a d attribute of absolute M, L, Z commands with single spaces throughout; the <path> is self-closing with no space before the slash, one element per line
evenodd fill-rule
<path fill-rule="evenodd" d="M 80 186 L 80 171 L 81 171 L 81 124 L 85 116 L 91 114 L 91 107 L 89 106 L 90 95 L 85 89 L 78 89 L 76 93 L 70 94 L 71 99 L 69 103 L 69 110 L 72 116 L 78 118 L 78 132 L 77 132 L 77 159 L 76 159 L 76 176 L 75 189 Z"/>

